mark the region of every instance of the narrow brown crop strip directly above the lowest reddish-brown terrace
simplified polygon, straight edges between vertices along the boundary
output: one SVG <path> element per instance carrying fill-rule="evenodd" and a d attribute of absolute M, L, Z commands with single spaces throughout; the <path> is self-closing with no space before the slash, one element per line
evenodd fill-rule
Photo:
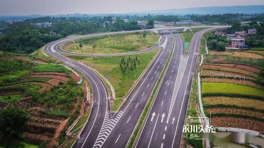
<path fill-rule="evenodd" d="M 247 116 L 254 116 L 257 118 L 264 119 L 264 113 L 259 111 L 254 111 L 251 109 L 238 109 L 234 107 L 213 107 L 206 109 L 208 113 L 217 114 L 217 113 L 224 113 L 224 114 L 238 114 L 238 115 L 247 115 Z"/>

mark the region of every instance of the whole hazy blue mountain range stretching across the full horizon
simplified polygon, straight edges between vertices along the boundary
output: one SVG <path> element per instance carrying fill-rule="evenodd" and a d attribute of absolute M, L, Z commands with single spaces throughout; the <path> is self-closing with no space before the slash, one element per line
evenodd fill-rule
<path fill-rule="evenodd" d="M 39 15 L 32 14 L 28 16 L 0 16 L 0 21 L 10 21 L 10 20 L 25 20 L 37 17 L 87 17 L 87 16 L 120 16 L 120 15 L 139 15 L 143 16 L 146 14 L 152 15 L 185 15 L 185 14 L 224 14 L 224 13 L 264 13 L 264 5 L 248 5 L 248 6 L 214 6 L 214 7 L 194 7 L 194 8 L 182 8 L 182 9 L 163 9 L 163 10 L 151 10 L 151 11 L 139 11 L 131 13 L 105 13 L 105 14 L 57 14 L 57 15 Z"/>

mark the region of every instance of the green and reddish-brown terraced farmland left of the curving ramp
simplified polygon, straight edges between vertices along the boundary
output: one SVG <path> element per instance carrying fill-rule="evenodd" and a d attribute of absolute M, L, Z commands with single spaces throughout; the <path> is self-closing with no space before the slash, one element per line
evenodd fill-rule
<path fill-rule="evenodd" d="M 22 109 L 28 116 L 25 130 L 21 132 L 23 138 L 51 147 L 58 145 L 55 135 L 63 133 L 82 108 L 83 94 L 75 81 L 80 77 L 63 65 L 23 59 L 2 59 L 0 69 L 8 76 L 0 86 L 0 110 Z"/>

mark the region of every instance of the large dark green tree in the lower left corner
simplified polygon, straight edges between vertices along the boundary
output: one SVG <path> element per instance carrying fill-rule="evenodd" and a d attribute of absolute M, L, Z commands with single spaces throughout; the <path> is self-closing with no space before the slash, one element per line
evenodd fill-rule
<path fill-rule="evenodd" d="M 27 120 L 27 113 L 20 108 L 8 106 L 0 111 L 0 135 L 6 144 L 21 138 Z"/>

